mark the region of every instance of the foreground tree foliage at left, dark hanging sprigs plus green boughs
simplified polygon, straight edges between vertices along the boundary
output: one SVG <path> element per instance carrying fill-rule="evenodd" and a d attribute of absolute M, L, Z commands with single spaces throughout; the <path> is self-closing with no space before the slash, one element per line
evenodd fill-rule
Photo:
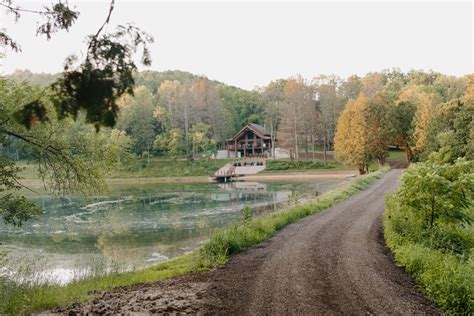
<path fill-rule="evenodd" d="M 100 170 L 94 168 L 94 163 L 86 162 L 60 134 L 65 134 L 66 119 L 83 119 L 97 131 L 101 126 L 113 126 L 119 111 L 117 101 L 124 94 L 133 94 L 133 72 L 137 69 L 133 55 L 138 48 L 143 52 L 141 62 L 151 63 L 147 48 L 153 41 L 151 36 L 133 25 L 105 32 L 114 6 L 112 0 L 104 23 L 87 38 L 84 58 L 68 57 L 60 77 L 43 91 L 0 80 L 1 145 L 28 147 L 38 162 L 39 174 L 58 193 L 76 190 L 87 194 L 103 187 Z M 70 9 L 67 1 L 57 1 L 35 11 L 16 5 L 13 0 L 0 0 L 0 8 L 15 21 L 24 12 L 37 16 L 37 34 L 48 40 L 58 31 L 68 31 L 79 17 L 79 12 Z M 4 30 L 0 31 L 0 46 L 16 52 L 21 50 L 20 44 Z M 24 196 L 12 193 L 20 185 L 19 169 L 8 156 L 2 156 L 1 161 L 0 213 L 5 222 L 20 225 L 36 214 L 38 207 Z"/>

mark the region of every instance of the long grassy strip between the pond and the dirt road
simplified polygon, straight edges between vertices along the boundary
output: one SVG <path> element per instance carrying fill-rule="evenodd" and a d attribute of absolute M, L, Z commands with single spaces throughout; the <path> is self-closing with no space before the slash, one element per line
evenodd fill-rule
<path fill-rule="evenodd" d="M 156 282 L 222 265 L 227 262 L 230 256 L 270 238 L 285 226 L 320 212 L 362 191 L 380 178 L 386 170 L 358 177 L 303 205 L 255 218 L 249 218 L 247 214 L 244 216 L 245 223 L 215 232 L 199 250 L 145 269 L 78 280 L 65 286 L 35 284 L 17 286 L 0 278 L 0 297 L 2 298 L 0 314 L 21 314 L 47 310 L 91 299 L 94 291 Z"/>

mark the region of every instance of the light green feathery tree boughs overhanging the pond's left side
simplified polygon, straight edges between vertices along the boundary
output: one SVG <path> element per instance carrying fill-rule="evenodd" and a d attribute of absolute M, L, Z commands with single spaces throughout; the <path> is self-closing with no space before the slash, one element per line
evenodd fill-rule
<path fill-rule="evenodd" d="M 25 84 L 0 80 L 0 148 L 21 150 L 36 163 L 39 176 L 54 193 L 97 194 L 105 188 L 104 175 L 118 161 L 107 132 L 97 134 L 84 124 L 82 116 L 77 121 L 50 116 L 47 123 L 27 129 L 14 118 L 21 105 L 39 93 L 42 92 Z M 41 209 L 19 194 L 23 187 L 19 176 L 22 168 L 16 166 L 11 155 L 0 151 L 0 161 L 0 215 L 6 223 L 21 225 Z"/>

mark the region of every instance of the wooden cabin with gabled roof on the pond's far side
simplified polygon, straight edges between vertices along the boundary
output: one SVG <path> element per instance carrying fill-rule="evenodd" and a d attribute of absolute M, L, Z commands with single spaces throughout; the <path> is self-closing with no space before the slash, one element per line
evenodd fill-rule
<path fill-rule="evenodd" d="M 272 156 L 272 137 L 264 126 L 249 123 L 234 137 L 227 140 L 227 157 Z"/>

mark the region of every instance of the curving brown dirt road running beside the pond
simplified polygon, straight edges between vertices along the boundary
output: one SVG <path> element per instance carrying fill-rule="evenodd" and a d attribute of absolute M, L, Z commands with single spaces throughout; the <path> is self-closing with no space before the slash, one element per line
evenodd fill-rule
<path fill-rule="evenodd" d="M 99 311 L 95 307 L 106 304 L 102 312 L 439 314 L 383 246 L 383 199 L 400 172 L 288 226 L 222 268 L 120 289 L 107 294 L 113 299 L 72 310 Z"/>

